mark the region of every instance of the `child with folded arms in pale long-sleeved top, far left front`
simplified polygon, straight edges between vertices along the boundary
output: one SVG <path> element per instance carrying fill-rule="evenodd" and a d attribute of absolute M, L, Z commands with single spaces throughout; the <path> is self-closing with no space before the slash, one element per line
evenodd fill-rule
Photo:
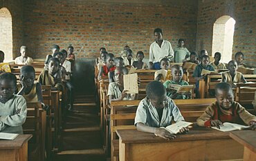
<path fill-rule="evenodd" d="M 26 100 L 14 94 L 16 88 L 15 74 L 0 75 L 0 132 L 23 133 L 21 125 L 26 120 Z"/>

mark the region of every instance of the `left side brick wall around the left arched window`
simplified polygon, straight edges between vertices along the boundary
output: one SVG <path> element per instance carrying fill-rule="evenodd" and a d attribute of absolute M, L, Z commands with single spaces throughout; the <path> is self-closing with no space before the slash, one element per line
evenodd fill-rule
<path fill-rule="evenodd" d="M 23 3 L 22 0 L 0 0 L 0 9 L 1 8 L 7 8 L 12 15 L 12 46 L 8 44 L 7 45 L 10 50 L 12 50 L 13 57 L 15 58 L 17 55 L 19 55 L 19 47 L 24 43 Z M 0 43 L 3 39 L 3 36 L 1 36 Z M 4 48 L 6 49 L 6 47 Z"/>

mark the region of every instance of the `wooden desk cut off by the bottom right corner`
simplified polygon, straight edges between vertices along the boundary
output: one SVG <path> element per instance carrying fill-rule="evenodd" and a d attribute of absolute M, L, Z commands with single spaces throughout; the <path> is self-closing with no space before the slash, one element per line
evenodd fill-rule
<path fill-rule="evenodd" d="M 256 160 L 256 131 L 232 131 L 230 137 L 244 146 L 244 161 Z"/>

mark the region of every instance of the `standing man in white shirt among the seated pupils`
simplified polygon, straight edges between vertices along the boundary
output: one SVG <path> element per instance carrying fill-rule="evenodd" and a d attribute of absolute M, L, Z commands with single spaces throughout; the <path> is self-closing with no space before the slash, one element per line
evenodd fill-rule
<path fill-rule="evenodd" d="M 160 69 L 162 58 L 174 58 L 174 50 L 169 41 L 163 40 L 161 28 L 154 30 L 155 41 L 149 47 L 149 67 L 150 69 Z"/>

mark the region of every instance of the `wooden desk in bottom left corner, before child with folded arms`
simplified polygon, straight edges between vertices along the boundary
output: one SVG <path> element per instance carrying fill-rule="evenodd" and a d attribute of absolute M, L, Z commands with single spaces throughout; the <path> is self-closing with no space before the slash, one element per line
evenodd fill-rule
<path fill-rule="evenodd" d="M 32 135 L 19 135 L 15 140 L 0 140 L 0 160 L 28 160 L 28 140 Z"/>

